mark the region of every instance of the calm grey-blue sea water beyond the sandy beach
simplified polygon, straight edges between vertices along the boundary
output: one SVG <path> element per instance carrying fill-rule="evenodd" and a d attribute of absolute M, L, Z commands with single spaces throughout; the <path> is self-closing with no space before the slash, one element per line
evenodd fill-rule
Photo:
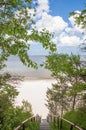
<path fill-rule="evenodd" d="M 31 60 L 38 64 L 38 69 L 24 66 L 18 57 L 11 56 L 6 61 L 7 67 L 2 72 L 9 72 L 12 76 L 26 76 L 32 78 L 50 78 L 50 72 L 40 66 L 45 61 L 45 56 L 30 56 Z"/>

